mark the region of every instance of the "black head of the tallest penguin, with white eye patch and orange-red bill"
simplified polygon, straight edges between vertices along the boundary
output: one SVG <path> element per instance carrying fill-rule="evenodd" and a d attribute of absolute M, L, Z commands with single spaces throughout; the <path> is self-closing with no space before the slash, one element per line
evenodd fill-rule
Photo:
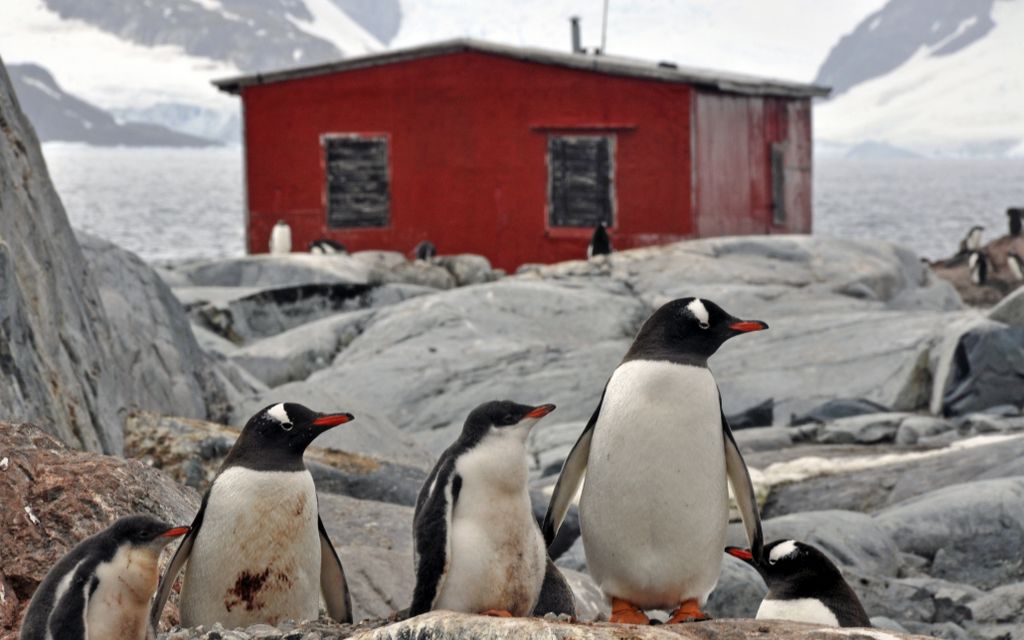
<path fill-rule="evenodd" d="M 729 338 L 765 329 L 767 324 L 730 315 L 711 300 L 680 298 L 647 318 L 626 359 L 703 364 Z"/>

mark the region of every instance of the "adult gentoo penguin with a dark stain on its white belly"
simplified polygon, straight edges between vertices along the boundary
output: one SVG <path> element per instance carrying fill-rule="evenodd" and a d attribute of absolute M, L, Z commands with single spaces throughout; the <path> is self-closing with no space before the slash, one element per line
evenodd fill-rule
<path fill-rule="evenodd" d="M 271 404 L 249 419 L 164 573 L 154 627 L 187 561 L 181 625 L 228 629 L 315 620 L 319 596 L 334 620 L 352 620 L 341 561 L 319 518 L 302 454 L 351 414 Z"/>

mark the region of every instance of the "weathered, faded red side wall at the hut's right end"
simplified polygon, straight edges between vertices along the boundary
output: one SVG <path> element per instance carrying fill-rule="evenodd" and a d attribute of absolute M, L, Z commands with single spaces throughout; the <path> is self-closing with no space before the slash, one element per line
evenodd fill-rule
<path fill-rule="evenodd" d="M 810 233 L 810 100 L 696 91 L 694 101 L 697 233 Z M 785 144 L 783 224 L 772 222 L 773 142 Z"/>

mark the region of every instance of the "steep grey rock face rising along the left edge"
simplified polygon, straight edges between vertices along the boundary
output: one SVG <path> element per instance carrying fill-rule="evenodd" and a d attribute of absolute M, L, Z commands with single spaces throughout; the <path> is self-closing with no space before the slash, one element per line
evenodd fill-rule
<path fill-rule="evenodd" d="M 113 328 L 0 61 L 0 412 L 119 453 L 128 376 Z"/>

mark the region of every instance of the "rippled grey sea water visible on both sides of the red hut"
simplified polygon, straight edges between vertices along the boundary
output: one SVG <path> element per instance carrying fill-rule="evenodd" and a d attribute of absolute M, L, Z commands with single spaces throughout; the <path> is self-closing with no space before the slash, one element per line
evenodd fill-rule
<path fill-rule="evenodd" d="M 241 255 L 242 151 L 97 148 L 43 152 L 72 224 L 146 260 Z M 988 238 L 1024 207 L 1024 160 L 819 160 L 816 233 L 881 239 L 938 258 L 973 224 Z"/>

